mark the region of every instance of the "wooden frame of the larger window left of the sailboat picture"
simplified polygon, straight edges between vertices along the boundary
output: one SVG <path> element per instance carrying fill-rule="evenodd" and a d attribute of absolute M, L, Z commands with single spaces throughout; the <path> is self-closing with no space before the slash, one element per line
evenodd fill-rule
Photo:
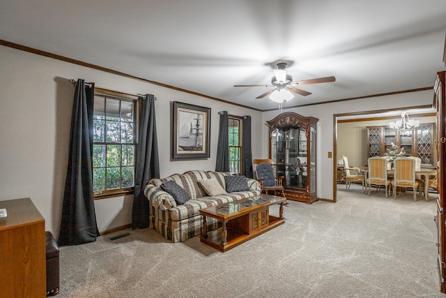
<path fill-rule="evenodd" d="M 140 111 L 140 100 L 138 100 L 138 96 L 134 96 L 132 94 L 125 94 L 123 92 L 119 91 L 111 91 L 107 89 L 100 89 L 95 88 L 94 96 L 96 97 L 102 97 L 105 100 L 108 99 L 114 99 L 114 100 L 121 100 L 125 102 L 132 102 L 133 103 L 133 142 L 132 143 L 125 143 L 125 144 L 133 144 L 134 146 L 134 162 L 133 162 L 133 179 L 134 174 L 136 170 L 136 164 L 137 164 L 137 144 L 138 144 L 138 132 L 139 132 L 139 111 Z M 94 114 L 94 112 L 93 112 Z M 94 142 L 94 144 L 119 144 L 123 145 L 124 143 L 114 143 L 114 142 Z M 122 151 L 121 151 L 121 158 L 122 158 Z M 106 166 L 107 167 L 107 166 Z M 119 166 L 120 168 L 123 167 L 121 164 Z M 93 163 L 92 163 L 92 171 L 93 171 Z M 118 196 L 123 195 L 131 195 L 134 193 L 134 183 L 131 187 L 125 187 L 125 188 L 114 188 L 109 190 L 102 190 L 102 191 L 93 191 L 93 198 L 94 200 L 101 200 L 106 198 L 114 198 Z"/>

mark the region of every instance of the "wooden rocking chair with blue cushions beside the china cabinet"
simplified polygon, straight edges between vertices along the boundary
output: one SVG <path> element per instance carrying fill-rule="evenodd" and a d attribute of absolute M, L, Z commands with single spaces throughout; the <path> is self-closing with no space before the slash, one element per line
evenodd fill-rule
<path fill-rule="evenodd" d="M 252 164 L 256 172 L 256 179 L 260 183 L 262 193 L 268 195 L 272 191 L 274 195 L 279 193 L 282 198 L 286 198 L 282 184 L 284 177 L 276 177 L 272 168 L 273 163 L 272 159 L 254 159 Z"/>

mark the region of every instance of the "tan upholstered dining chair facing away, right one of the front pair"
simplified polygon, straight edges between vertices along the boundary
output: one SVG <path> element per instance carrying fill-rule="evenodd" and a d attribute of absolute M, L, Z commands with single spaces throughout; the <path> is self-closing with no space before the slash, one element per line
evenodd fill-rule
<path fill-rule="evenodd" d="M 399 157 L 394 160 L 394 177 L 392 180 L 393 198 L 397 198 L 397 190 L 401 188 L 413 188 L 413 200 L 417 200 L 417 189 L 420 195 L 423 195 L 422 187 L 424 181 L 415 177 L 415 159 L 408 157 Z"/>

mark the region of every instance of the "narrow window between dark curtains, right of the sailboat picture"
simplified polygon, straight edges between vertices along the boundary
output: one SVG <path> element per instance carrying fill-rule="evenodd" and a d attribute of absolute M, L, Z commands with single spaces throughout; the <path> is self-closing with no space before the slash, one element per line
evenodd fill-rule
<path fill-rule="evenodd" d="M 242 169 L 242 130 L 239 118 L 229 116 L 229 172 L 241 174 Z"/>

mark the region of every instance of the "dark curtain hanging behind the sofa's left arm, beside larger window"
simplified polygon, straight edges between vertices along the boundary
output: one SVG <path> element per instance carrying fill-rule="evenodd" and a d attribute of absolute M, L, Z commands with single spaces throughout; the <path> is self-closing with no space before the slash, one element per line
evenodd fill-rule
<path fill-rule="evenodd" d="M 148 200 L 144 196 L 144 187 L 153 178 L 160 178 L 158 142 L 155 122 L 155 96 L 147 94 L 141 98 L 139 115 L 139 137 L 137 164 L 134 174 L 134 197 L 132 209 L 132 227 L 148 228 Z"/>

